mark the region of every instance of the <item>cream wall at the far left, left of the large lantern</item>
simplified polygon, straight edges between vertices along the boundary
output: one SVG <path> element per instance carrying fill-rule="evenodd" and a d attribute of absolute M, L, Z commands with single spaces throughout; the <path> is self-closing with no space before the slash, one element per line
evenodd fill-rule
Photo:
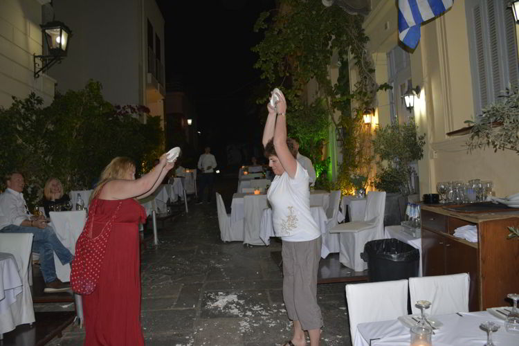
<path fill-rule="evenodd" d="M 31 91 L 50 104 L 53 78 L 34 78 L 33 53 L 42 54 L 42 3 L 0 0 L 0 106 L 10 107 L 12 96 L 26 98 Z"/>

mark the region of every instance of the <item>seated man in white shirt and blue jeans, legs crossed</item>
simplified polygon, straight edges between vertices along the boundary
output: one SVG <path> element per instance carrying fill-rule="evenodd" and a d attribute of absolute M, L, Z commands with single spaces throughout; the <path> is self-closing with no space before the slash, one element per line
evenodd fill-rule
<path fill-rule="evenodd" d="M 72 262 L 74 256 L 57 239 L 45 217 L 30 215 L 24 195 L 24 176 L 12 172 L 6 176 L 7 189 L 0 194 L 0 233 L 33 233 L 33 251 L 39 253 L 39 262 L 45 280 L 46 293 L 63 292 L 70 287 L 56 277 L 54 253 L 62 264 Z"/>

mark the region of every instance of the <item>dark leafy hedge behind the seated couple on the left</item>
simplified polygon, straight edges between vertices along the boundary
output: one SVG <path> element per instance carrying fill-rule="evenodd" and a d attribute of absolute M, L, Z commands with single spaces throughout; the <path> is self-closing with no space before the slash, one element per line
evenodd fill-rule
<path fill-rule="evenodd" d="M 113 107 L 101 91 L 99 82 L 90 81 L 82 90 L 57 94 L 48 107 L 35 93 L 0 107 L 0 176 L 22 172 L 30 205 L 42 198 L 51 176 L 65 191 L 89 189 L 113 157 L 133 158 L 139 171 L 163 152 L 160 117 L 148 116 L 143 124 L 138 118 L 149 109 Z M 1 179 L 0 190 L 5 188 Z"/>

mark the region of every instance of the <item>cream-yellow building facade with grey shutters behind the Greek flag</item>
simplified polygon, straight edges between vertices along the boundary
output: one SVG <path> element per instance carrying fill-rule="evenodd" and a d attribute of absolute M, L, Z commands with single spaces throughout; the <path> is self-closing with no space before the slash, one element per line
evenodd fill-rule
<path fill-rule="evenodd" d="M 426 134 L 424 158 L 417 163 L 420 192 L 436 192 L 439 181 L 475 178 L 493 181 L 498 196 L 519 192 L 516 152 L 468 152 L 468 134 L 448 136 L 518 83 L 517 28 L 507 1 L 454 1 L 444 15 L 421 26 L 414 51 L 401 48 L 397 20 L 394 1 L 373 0 L 363 25 L 376 82 L 393 86 L 377 94 L 374 122 L 388 125 L 414 116 L 419 133 Z M 354 69 L 350 75 L 354 83 Z M 419 86 L 412 112 L 401 100 L 409 85 Z"/>

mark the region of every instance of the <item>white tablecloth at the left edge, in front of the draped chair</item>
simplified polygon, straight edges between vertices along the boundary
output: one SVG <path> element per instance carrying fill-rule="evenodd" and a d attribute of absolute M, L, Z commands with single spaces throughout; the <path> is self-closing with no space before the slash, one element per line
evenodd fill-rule
<path fill-rule="evenodd" d="M 10 253 L 0 253 L 0 315 L 8 311 L 10 305 L 16 302 L 16 297 L 21 291 L 21 277 L 15 256 Z"/>

